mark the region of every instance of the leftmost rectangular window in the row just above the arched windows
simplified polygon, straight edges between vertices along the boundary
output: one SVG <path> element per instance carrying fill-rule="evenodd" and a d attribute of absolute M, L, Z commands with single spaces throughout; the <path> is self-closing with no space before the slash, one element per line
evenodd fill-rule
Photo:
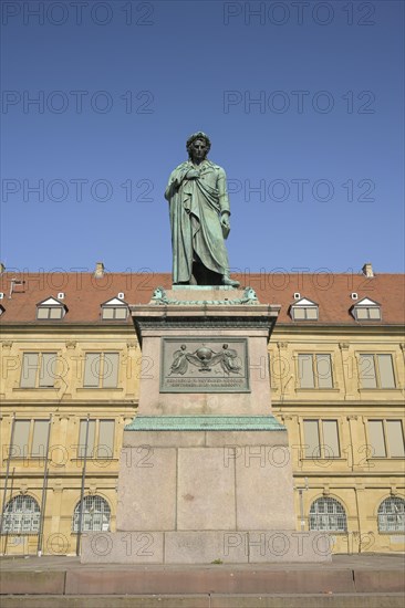
<path fill-rule="evenodd" d="M 15 420 L 11 455 L 45 458 L 49 420 Z"/>

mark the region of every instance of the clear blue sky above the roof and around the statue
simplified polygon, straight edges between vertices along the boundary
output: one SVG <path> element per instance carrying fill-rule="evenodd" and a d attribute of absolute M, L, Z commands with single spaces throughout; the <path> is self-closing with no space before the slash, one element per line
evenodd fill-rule
<path fill-rule="evenodd" d="M 1 8 L 7 268 L 170 271 L 163 191 L 201 129 L 232 269 L 404 271 L 402 1 Z"/>

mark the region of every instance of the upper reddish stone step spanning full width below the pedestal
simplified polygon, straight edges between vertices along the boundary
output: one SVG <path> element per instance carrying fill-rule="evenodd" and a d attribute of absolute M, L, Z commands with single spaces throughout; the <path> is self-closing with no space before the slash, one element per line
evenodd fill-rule
<path fill-rule="evenodd" d="M 32 565 L 39 564 L 38 560 Z M 62 564 L 62 563 L 61 563 Z M 2 595 L 249 595 L 290 594 L 398 594 L 404 593 L 404 569 L 360 569 L 326 566 L 301 567 L 290 564 L 283 569 L 263 567 L 94 567 L 75 564 L 68 569 L 12 569 L 0 572 Z M 45 565 L 45 564 L 44 564 Z M 79 567 L 77 567 L 79 566 Z M 393 564 L 394 566 L 394 564 Z M 9 569 L 10 568 L 10 569 Z"/>

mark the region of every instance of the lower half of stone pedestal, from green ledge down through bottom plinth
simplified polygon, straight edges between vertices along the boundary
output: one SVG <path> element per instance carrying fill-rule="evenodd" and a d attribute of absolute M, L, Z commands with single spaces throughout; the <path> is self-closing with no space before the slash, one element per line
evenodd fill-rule
<path fill-rule="evenodd" d="M 139 416 L 127 429 L 118 532 L 85 535 L 83 563 L 330 560 L 328 535 L 295 532 L 287 431 L 272 416 Z"/>

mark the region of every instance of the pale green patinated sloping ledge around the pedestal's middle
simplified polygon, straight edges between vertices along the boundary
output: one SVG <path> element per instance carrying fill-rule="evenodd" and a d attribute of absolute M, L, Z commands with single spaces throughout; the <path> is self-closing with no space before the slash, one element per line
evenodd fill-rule
<path fill-rule="evenodd" d="M 126 431 L 285 431 L 273 416 L 136 416 Z"/>

